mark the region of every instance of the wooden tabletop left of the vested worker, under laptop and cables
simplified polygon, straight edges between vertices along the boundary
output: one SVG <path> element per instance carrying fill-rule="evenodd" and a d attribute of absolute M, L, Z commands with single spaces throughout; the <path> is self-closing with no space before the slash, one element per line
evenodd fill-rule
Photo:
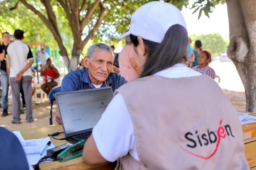
<path fill-rule="evenodd" d="M 37 128 L 29 128 L 25 130 L 21 130 L 21 135 L 25 140 L 29 139 L 39 139 L 39 138 L 46 138 L 49 133 L 55 132 L 63 132 L 61 125 L 49 125 L 44 127 L 37 127 Z M 60 134 L 55 136 L 56 138 L 64 138 L 64 134 Z M 51 137 L 50 137 L 51 138 Z M 66 140 L 55 140 L 51 138 L 52 143 L 54 146 L 59 146 L 62 144 L 67 143 Z M 83 163 L 82 157 L 67 161 L 67 162 L 49 162 L 49 163 L 42 163 L 39 165 L 41 170 L 113 170 L 109 163 L 106 164 L 99 164 L 99 165 L 87 165 Z"/>

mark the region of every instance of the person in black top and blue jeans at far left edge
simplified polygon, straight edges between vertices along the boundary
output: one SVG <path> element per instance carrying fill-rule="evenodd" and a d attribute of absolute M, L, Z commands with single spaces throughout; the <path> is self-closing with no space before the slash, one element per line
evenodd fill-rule
<path fill-rule="evenodd" d="M 0 60 L 1 60 L 1 86 L 2 86 L 2 116 L 8 115 L 8 88 L 9 88 L 9 76 L 6 70 L 5 63 L 5 47 L 11 42 L 10 34 L 5 32 L 2 34 L 3 44 L 0 46 Z"/>

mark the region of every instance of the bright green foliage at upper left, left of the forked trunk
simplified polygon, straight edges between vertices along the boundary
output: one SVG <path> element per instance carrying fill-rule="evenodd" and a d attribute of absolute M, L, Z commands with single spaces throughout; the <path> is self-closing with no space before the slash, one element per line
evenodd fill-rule
<path fill-rule="evenodd" d="M 45 43 L 49 45 L 51 43 L 57 45 L 51 31 L 45 26 L 43 21 L 22 3 L 19 3 L 17 9 L 10 10 L 11 7 L 15 6 L 16 2 L 16 0 L 8 0 L 0 3 L 0 30 L 2 32 L 8 31 L 10 34 L 13 34 L 16 29 L 23 30 L 25 32 L 23 42 L 27 44 Z M 35 5 L 42 8 L 43 5 L 40 1 L 35 2 Z M 68 52 L 71 53 L 74 40 L 64 14 L 65 12 L 61 8 L 55 7 L 53 9 L 58 13 L 57 19 L 60 23 L 58 28 L 61 30 L 60 34 L 63 43 L 66 45 Z M 40 12 L 45 14 L 43 8 Z M 40 40 L 38 40 L 38 37 L 40 37 Z"/>

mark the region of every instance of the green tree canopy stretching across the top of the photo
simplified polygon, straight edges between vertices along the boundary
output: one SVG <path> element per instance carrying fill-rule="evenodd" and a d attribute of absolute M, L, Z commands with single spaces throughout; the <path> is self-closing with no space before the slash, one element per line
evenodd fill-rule
<path fill-rule="evenodd" d="M 151 2 L 153 0 L 105 0 L 103 6 L 108 8 L 103 21 L 101 22 L 99 30 L 96 32 L 95 36 L 92 39 L 92 43 L 95 42 L 111 42 L 118 43 L 118 37 L 126 32 L 130 26 L 130 19 L 132 14 L 140 6 Z M 29 4 L 34 6 L 39 10 L 43 15 L 46 15 L 46 9 L 40 1 L 29 0 Z M 71 54 L 74 38 L 72 31 L 67 20 L 67 14 L 64 9 L 56 0 L 51 0 L 51 6 L 56 15 L 58 30 L 61 34 L 63 44 L 68 51 L 68 54 Z M 94 1 L 91 1 L 91 4 Z M 177 6 L 179 9 L 182 9 L 183 6 L 187 7 L 188 0 L 165 0 L 165 2 L 171 3 Z M 197 0 L 192 8 L 195 8 L 195 11 L 200 10 L 199 18 L 202 11 L 205 15 L 209 17 L 208 13 L 211 13 L 214 9 L 214 6 L 219 3 L 224 3 L 225 0 Z M 15 7 L 17 0 L 2 0 L 0 1 L 0 30 L 7 30 L 10 33 L 13 33 L 15 29 L 21 29 L 26 31 L 24 42 L 26 43 L 46 43 L 46 44 L 57 44 L 54 40 L 51 32 L 42 22 L 42 20 L 35 15 L 32 11 L 28 10 L 22 3 L 19 3 L 18 8 L 10 10 L 10 8 Z M 82 1 L 80 0 L 80 4 Z M 84 17 L 87 13 L 87 7 L 89 3 L 85 4 L 85 7 L 80 12 L 80 19 Z M 195 12 L 194 11 L 194 12 Z M 93 29 L 98 16 L 100 13 L 100 8 L 97 7 L 91 16 L 88 24 L 83 30 L 84 39 L 88 33 Z M 40 42 L 37 40 L 37 36 L 40 36 Z"/>

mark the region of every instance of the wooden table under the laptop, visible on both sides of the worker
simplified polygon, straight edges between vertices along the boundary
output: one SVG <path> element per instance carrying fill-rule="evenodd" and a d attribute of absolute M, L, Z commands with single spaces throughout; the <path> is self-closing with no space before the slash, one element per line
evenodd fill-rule
<path fill-rule="evenodd" d="M 245 112 L 245 111 L 239 111 Z M 256 113 L 250 113 L 252 116 L 256 116 Z M 244 143 L 245 143 L 245 155 L 251 170 L 256 169 L 256 123 L 242 125 L 244 132 Z M 29 128 L 20 131 L 25 140 L 28 139 L 39 139 L 45 138 L 49 133 L 63 132 L 61 125 L 49 125 L 44 127 Z M 64 134 L 56 136 L 57 138 L 65 137 Z M 54 146 L 59 146 L 67 143 L 66 140 L 55 140 L 52 139 Z M 109 163 L 100 165 L 86 165 L 83 163 L 82 157 L 76 158 L 67 162 L 60 163 L 58 161 L 40 164 L 41 170 L 113 170 Z"/>

